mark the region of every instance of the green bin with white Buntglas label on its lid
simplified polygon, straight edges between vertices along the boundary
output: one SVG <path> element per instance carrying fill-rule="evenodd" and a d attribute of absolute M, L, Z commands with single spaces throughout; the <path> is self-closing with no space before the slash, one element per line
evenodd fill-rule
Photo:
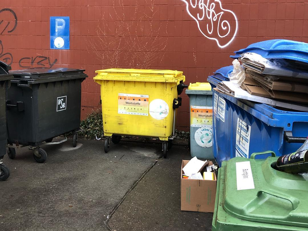
<path fill-rule="evenodd" d="M 272 157 L 254 159 L 265 153 Z M 308 177 L 274 169 L 277 159 L 268 151 L 222 162 L 213 231 L 308 230 Z"/>

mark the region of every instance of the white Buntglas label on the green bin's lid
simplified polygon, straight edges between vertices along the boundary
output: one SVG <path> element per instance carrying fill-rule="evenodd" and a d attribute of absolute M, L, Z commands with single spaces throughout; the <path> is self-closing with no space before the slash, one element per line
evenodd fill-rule
<path fill-rule="evenodd" d="M 236 162 L 235 164 L 237 190 L 254 189 L 250 162 Z"/>

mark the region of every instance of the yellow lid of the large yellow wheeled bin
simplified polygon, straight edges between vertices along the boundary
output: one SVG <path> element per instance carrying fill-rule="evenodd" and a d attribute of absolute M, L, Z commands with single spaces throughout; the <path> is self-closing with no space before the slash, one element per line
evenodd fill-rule
<path fill-rule="evenodd" d="M 172 82 L 185 81 L 183 71 L 152 70 L 152 69 L 123 69 L 111 68 L 95 71 L 94 79 L 99 80 L 122 80 L 144 82 Z"/>

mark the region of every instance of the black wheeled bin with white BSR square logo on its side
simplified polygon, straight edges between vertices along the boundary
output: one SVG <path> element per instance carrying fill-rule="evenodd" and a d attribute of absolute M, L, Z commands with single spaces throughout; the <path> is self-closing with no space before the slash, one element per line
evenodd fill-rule
<path fill-rule="evenodd" d="M 34 159 L 43 163 L 47 153 L 39 145 L 62 143 L 66 137 L 59 142 L 52 139 L 69 132 L 76 147 L 84 70 L 34 68 L 10 73 L 14 79 L 6 105 L 9 157 L 15 158 L 15 148 L 29 146 Z"/>

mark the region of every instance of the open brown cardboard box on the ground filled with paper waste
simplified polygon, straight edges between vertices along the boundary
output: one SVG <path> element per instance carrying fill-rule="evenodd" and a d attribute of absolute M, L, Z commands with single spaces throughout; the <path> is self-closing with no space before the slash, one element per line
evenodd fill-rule
<path fill-rule="evenodd" d="M 212 161 L 203 161 L 204 164 L 200 166 L 200 162 L 196 162 L 197 157 L 194 157 L 192 160 L 196 166 L 196 175 L 197 179 L 188 179 L 184 178 L 183 168 L 190 162 L 189 160 L 182 161 L 181 167 L 181 210 L 182 211 L 196 211 L 196 212 L 214 212 L 215 207 L 215 196 L 216 196 L 216 183 L 217 178 L 213 172 L 213 175 L 208 172 L 212 170 L 210 167 L 213 165 Z M 198 160 L 201 161 L 201 160 Z M 191 164 L 189 164 L 191 165 Z M 191 167 L 190 166 L 190 172 Z M 184 168 L 187 171 L 187 167 Z M 208 170 L 208 171 L 207 171 Z M 213 171 L 213 170 L 212 170 Z M 204 172 L 206 172 L 204 176 Z M 198 173 L 198 174 L 197 174 Z M 194 177 L 192 175 L 192 177 Z M 200 176 L 206 177 L 206 179 L 199 179 Z M 209 177 L 209 175 L 211 175 Z M 212 178 L 213 176 L 213 178 Z M 210 179 L 212 178 L 212 179 Z M 210 180 L 207 180 L 210 179 Z"/>

